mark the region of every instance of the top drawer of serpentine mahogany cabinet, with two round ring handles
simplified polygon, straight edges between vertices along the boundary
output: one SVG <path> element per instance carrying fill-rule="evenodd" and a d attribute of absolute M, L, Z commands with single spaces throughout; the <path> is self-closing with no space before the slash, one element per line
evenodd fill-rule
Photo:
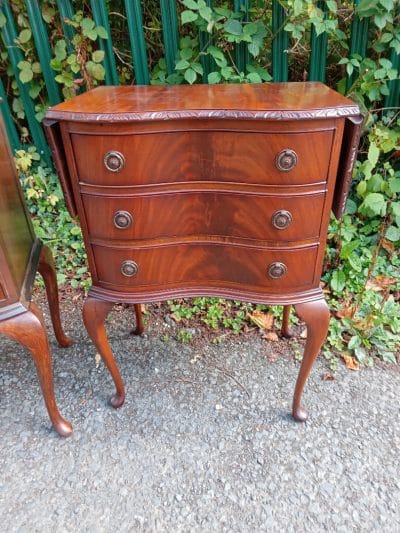
<path fill-rule="evenodd" d="M 78 178 L 95 185 L 219 181 L 301 185 L 327 179 L 334 130 L 72 133 Z"/>

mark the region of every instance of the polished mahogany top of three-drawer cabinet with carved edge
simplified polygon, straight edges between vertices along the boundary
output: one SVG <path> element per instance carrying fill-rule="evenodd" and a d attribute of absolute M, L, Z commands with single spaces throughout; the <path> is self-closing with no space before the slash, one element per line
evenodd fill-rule
<path fill-rule="evenodd" d="M 354 116 L 348 98 L 318 82 L 101 86 L 51 107 L 57 120 L 128 122 L 195 118 L 301 120 Z"/>

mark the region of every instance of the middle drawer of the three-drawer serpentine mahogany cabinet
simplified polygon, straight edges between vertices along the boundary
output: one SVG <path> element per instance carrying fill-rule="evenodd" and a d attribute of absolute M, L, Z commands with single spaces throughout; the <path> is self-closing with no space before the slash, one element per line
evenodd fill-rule
<path fill-rule="evenodd" d="M 283 242 L 316 239 L 324 200 L 324 191 L 303 195 L 82 194 L 90 237 L 122 241 L 194 235 Z"/>

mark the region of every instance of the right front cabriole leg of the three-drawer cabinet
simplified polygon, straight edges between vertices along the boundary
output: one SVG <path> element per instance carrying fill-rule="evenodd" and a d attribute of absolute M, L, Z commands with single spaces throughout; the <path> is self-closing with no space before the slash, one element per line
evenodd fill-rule
<path fill-rule="evenodd" d="M 307 420 L 307 412 L 301 406 L 301 395 L 311 368 L 328 332 L 330 314 L 323 298 L 314 300 L 313 302 L 296 304 L 295 310 L 299 318 L 306 323 L 307 340 L 294 391 L 293 418 L 298 422 L 305 422 Z"/>

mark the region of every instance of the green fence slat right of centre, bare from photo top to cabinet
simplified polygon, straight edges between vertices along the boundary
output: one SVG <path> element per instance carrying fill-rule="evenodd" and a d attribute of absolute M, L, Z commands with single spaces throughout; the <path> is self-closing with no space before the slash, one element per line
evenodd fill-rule
<path fill-rule="evenodd" d="M 285 10 L 279 0 L 272 2 L 272 79 L 274 81 L 288 81 L 289 34 L 283 29 L 285 24 Z"/>

